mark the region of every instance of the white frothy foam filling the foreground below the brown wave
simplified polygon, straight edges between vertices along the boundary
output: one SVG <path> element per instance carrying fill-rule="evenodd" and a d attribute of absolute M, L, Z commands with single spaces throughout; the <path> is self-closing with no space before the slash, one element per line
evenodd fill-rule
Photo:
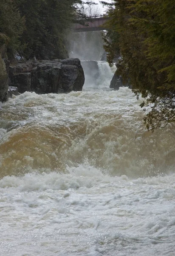
<path fill-rule="evenodd" d="M 3 256 L 174 255 L 175 175 L 129 179 L 90 166 L 0 180 Z"/>

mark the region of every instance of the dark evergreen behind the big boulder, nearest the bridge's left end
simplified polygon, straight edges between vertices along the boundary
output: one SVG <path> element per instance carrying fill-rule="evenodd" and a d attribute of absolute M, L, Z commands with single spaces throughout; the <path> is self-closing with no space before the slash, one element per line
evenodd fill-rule
<path fill-rule="evenodd" d="M 65 49 L 66 29 L 79 12 L 80 0 L 19 0 L 18 8 L 25 17 L 21 43 L 26 44 L 25 58 L 53 59 L 68 57 Z"/>

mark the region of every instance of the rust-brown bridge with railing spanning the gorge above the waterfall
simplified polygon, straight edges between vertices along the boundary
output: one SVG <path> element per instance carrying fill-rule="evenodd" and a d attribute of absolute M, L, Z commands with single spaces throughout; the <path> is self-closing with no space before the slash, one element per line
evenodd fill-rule
<path fill-rule="evenodd" d="M 109 20 L 109 17 L 106 15 L 93 15 L 88 17 L 89 21 L 85 22 L 85 25 L 79 23 L 74 24 L 75 32 L 85 32 L 85 31 L 97 31 L 97 30 L 106 30 L 104 23 Z M 104 26 L 103 26 L 104 25 Z"/>

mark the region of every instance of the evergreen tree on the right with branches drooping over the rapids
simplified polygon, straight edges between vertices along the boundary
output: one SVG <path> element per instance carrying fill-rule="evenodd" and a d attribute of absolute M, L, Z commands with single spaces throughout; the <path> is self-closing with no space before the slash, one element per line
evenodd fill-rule
<path fill-rule="evenodd" d="M 117 73 L 148 97 L 147 128 L 167 125 L 175 117 L 175 0 L 115 0 L 108 13 L 109 61 L 119 50 Z"/>

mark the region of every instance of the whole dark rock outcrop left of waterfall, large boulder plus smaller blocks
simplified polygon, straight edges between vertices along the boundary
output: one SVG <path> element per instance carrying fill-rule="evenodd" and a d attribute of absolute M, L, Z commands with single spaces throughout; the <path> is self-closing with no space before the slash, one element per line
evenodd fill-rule
<path fill-rule="evenodd" d="M 9 85 L 20 93 L 68 93 L 82 90 L 85 82 L 79 59 L 17 62 L 10 66 Z"/>

